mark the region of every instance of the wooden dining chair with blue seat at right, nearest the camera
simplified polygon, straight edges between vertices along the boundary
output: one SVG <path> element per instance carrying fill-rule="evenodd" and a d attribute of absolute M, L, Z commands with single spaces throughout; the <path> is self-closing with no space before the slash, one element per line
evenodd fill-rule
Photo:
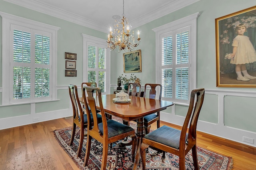
<path fill-rule="evenodd" d="M 164 125 L 143 137 L 140 146 L 142 170 L 146 169 L 146 149 L 148 147 L 163 151 L 162 160 L 165 158 L 165 152 L 179 156 L 180 170 L 185 170 L 185 156 L 192 149 L 194 168 L 199 170 L 196 152 L 196 125 L 203 102 L 204 88 L 192 90 L 188 112 L 181 130 Z"/>

